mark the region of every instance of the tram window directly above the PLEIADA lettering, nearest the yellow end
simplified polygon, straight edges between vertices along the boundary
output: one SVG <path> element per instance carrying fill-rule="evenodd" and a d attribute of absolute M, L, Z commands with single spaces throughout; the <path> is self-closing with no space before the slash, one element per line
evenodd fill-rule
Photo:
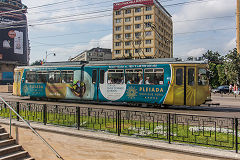
<path fill-rule="evenodd" d="M 163 85 L 164 84 L 164 69 L 145 69 L 144 71 L 145 84 Z"/>

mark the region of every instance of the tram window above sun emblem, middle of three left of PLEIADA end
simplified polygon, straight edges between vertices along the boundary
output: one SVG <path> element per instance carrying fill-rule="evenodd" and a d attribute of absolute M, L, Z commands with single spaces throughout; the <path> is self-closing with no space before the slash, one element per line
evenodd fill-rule
<path fill-rule="evenodd" d="M 143 77 L 142 69 L 126 69 L 126 84 L 140 84 Z"/>

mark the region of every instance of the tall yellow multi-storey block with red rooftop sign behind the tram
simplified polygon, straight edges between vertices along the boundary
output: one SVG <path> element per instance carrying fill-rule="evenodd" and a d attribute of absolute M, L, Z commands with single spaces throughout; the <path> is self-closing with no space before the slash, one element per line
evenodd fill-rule
<path fill-rule="evenodd" d="M 113 4 L 113 59 L 172 57 L 173 22 L 158 0 Z"/>

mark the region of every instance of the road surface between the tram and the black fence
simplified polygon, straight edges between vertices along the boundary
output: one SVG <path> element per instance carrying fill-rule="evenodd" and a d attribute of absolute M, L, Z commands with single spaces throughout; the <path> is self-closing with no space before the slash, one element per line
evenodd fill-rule
<path fill-rule="evenodd" d="M 118 110 L 130 110 L 130 111 L 143 111 L 143 112 L 161 112 L 161 113 L 176 113 L 176 114 L 194 114 L 194 115 L 206 115 L 206 116 L 219 116 L 219 117 L 236 117 L 240 118 L 240 97 L 235 98 L 231 95 L 219 94 L 213 95 L 212 99 L 214 103 L 220 103 L 219 106 L 201 105 L 195 107 L 187 106 L 170 106 L 169 108 L 154 108 L 154 107 L 129 107 L 127 105 L 116 104 L 97 104 L 97 103 L 84 103 L 84 102 L 70 102 L 70 101 L 33 101 L 29 97 L 17 97 L 10 93 L 0 93 L 7 101 L 19 101 L 24 103 L 36 103 L 36 104 L 49 104 L 60 106 L 79 106 L 88 108 L 104 108 L 104 109 L 118 109 Z"/>

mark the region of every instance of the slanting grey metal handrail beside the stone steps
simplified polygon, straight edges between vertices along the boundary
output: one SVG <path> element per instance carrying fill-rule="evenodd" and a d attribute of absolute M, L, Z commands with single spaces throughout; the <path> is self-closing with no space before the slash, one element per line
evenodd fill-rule
<path fill-rule="evenodd" d="M 14 112 L 18 118 L 20 118 L 32 131 L 35 135 L 37 135 L 41 141 L 43 141 L 49 149 L 52 150 L 52 152 L 57 156 L 57 158 L 64 160 L 60 154 L 25 120 L 20 116 L 2 97 L 0 97 L 0 100 L 10 109 L 10 136 L 11 136 L 11 127 L 12 127 L 12 112 Z"/>

